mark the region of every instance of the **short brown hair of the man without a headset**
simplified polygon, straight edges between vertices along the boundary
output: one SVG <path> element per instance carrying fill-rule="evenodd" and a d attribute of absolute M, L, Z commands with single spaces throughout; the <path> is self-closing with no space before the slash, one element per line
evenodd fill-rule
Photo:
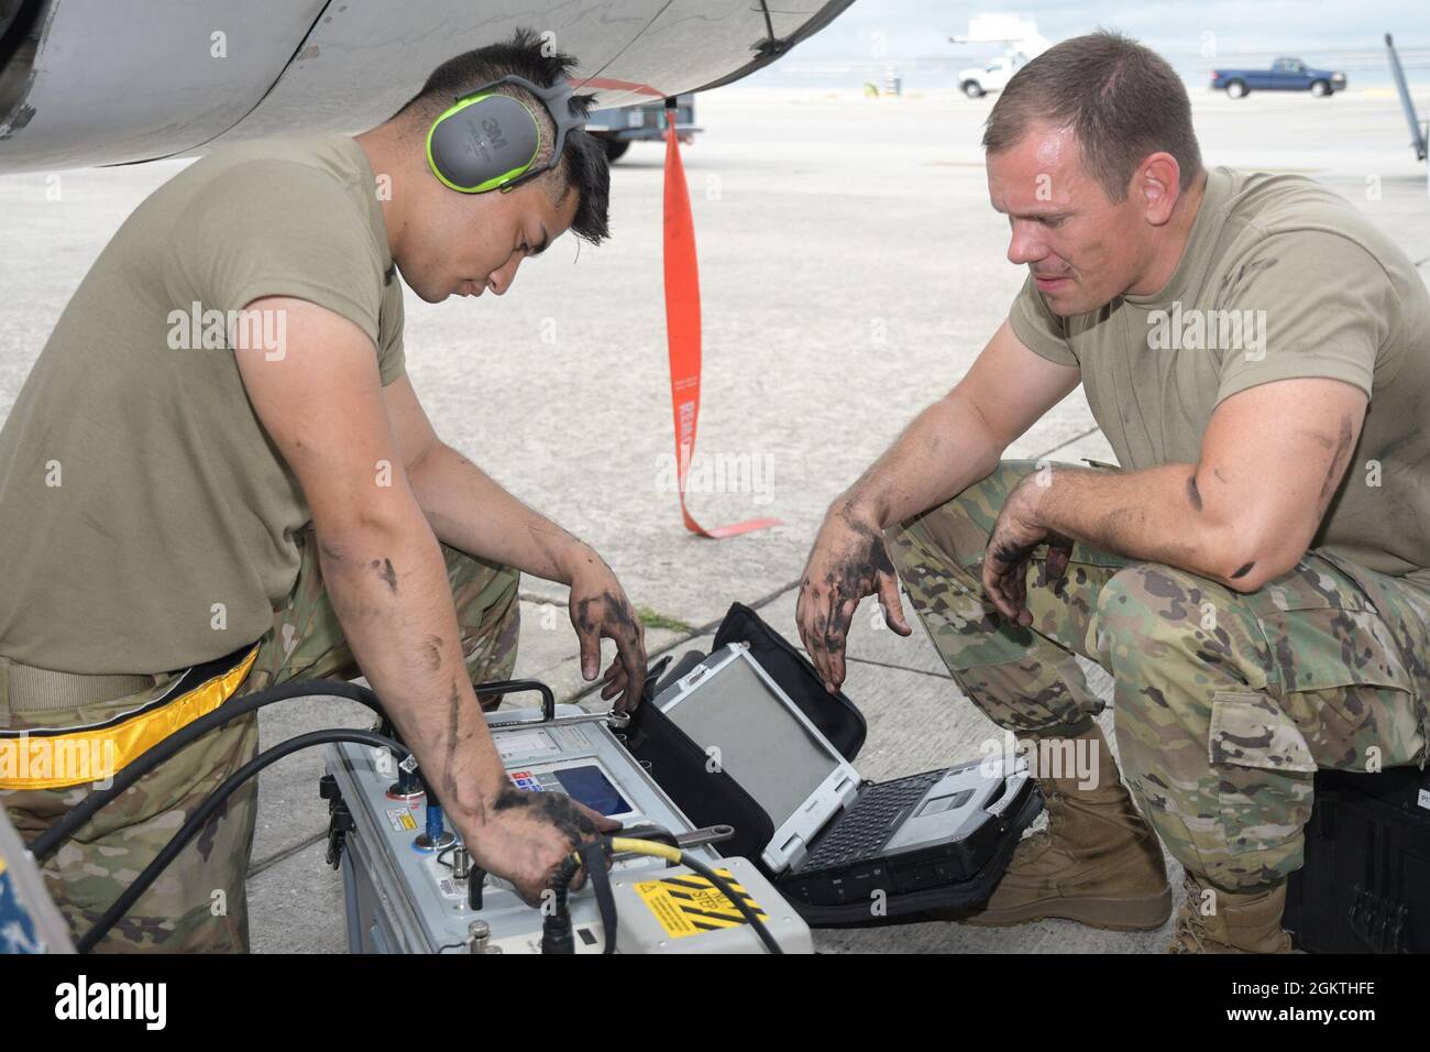
<path fill-rule="evenodd" d="M 1177 159 L 1183 190 L 1201 173 L 1187 87 L 1165 59 L 1121 33 L 1064 40 L 1014 73 L 984 125 L 984 149 L 1008 149 L 1035 123 L 1072 129 L 1113 202 L 1127 198 L 1150 153 Z"/>

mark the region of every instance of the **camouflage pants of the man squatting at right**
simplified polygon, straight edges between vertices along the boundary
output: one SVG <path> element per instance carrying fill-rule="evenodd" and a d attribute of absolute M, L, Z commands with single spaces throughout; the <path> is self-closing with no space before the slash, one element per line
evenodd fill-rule
<path fill-rule="evenodd" d="M 1048 585 L 1031 560 L 1032 624 L 982 594 L 988 535 L 1037 465 L 1004 461 L 887 531 L 889 554 L 962 691 L 1017 734 L 1085 730 L 1104 707 L 1075 654 L 1114 677 L 1127 783 L 1167 849 L 1226 890 L 1301 865 L 1318 767 L 1426 760 L 1430 588 L 1308 552 L 1250 594 L 1075 545 Z"/>

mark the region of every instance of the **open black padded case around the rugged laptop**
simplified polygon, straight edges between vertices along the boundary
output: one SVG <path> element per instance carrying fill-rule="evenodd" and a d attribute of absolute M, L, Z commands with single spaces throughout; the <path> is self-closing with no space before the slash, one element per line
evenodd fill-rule
<path fill-rule="evenodd" d="M 864 714 L 842 691 L 838 694 L 825 691 L 809 660 L 779 633 L 759 620 L 754 610 L 739 603 L 731 605 L 721 623 L 711 653 L 716 653 L 731 643 L 749 644 L 751 657 L 769 673 L 769 677 L 829 739 L 844 759 L 852 761 L 858 756 L 867 733 Z M 702 657 L 705 656 L 696 653 L 681 658 L 666 673 L 655 693 L 658 694 L 661 688 L 689 673 Z M 722 854 L 738 854 L 749 859 L 766 876 L 772 877 L 761 860 L 761 853 L 775 833 L 774 822 L 749 793 L 725 771 L 712 770 L 714 764 L 708 766 L 705 751 L 649 701 L 636 708 L 631 726 L 623 733 L 631 753 L 646 764 L 656 783 L 669 793 L 676 806 L 696 826 L 729 824 L 735 827 L 735 837 L 719 844 Z M 1005 816 L 1001 840 L 995 846 L 990 844 L 992 847 L 990 857 L 975 876 L 954 886 L 891 896 L 882 916 L 872 916 L 869 903 L 864 900 L 835 906 L 802 902 L 798 882 L 776 880 L 776 883 L 799 915 L 817 927 L 897 923 L 898 920 L 917 920 L 919 913 L 931 909 L 977 906 L 992 893 L 1008 866 L 1022 830 L 1042 807 L 1041 796 L 1031 780 L 1027 797 Z"/>

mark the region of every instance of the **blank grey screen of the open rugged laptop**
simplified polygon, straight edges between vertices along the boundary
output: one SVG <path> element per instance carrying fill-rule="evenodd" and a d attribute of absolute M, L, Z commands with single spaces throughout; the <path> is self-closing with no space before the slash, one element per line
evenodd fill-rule
<path fill-rule="evenodd" d="M 755 797 L 779 829 L 839 766 L 744 660 L 666 716 Z"/>

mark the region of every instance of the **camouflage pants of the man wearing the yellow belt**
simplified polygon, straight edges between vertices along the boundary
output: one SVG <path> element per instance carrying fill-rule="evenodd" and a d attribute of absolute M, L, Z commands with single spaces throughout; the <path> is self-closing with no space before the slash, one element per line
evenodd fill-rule
<path fill-rule="evenodd" d="M 299 535 L 302 564 L 286 604 L 273 614 L 247 694 L 289 680 L 355 678 L 360 673 L 323 587 L 312 528 Z M 519 574 L 442 545 L 472 683 L 511 678 L 516 664 Z M 67 727 L 106 720 L 157 696 L 177 676 L 157 677 L 152 690 L 100 706 L 23 713 L 11 727 Z M 50 895 L 76 936 L 83 935 L 163 849 L 187 816 L 225 779 L 257 754 L 256 716 L 204 734 L 174 759 L 142 777 L 110 803 L 46 866 Z M 6 790 L 0 803 L 26 840 L 80 803 L 90 786 Z M 257 813 L 257 783 L 229 797 L 212 822 L 97 945 L 102 952 L 246 952 L 245 882 Z"/>

